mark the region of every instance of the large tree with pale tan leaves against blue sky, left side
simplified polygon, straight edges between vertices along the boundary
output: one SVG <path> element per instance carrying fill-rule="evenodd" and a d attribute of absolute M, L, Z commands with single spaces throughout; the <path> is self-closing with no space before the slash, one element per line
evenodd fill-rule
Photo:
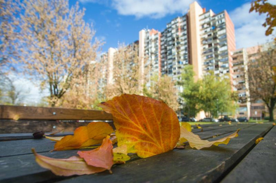
<path fill-rule="evenodd" d="M 17 40 L 26 73 L 49 89 L 51 106 L 83 74 L 86 64 L 95 60 L 100 41 L 85 23 L 85 9 L 78 3 L 69 9 L 66 0 L 25 0 Z"/>

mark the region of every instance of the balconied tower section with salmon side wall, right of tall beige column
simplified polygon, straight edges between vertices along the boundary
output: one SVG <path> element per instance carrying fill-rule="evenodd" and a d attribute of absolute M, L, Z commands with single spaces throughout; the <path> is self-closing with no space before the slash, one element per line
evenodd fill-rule
<path fill-rule="evenodd" d="M 214 14 L 209 10 L 199 16 L 201 58 L 203 73 L 213 71 L 216 75 L 231 76 L 231 51 L 236 49 L 234 25 L 226 11 Z"/>

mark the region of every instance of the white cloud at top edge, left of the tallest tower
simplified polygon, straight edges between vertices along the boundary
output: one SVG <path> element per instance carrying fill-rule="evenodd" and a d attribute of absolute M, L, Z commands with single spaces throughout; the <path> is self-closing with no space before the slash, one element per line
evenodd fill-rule
<path fill-rule="evenodd" d="M 120 15 L 136 18 L 162 18 L 168 14 L 186 13 L 193 0 L 113 0 L 112 6 Z"/>

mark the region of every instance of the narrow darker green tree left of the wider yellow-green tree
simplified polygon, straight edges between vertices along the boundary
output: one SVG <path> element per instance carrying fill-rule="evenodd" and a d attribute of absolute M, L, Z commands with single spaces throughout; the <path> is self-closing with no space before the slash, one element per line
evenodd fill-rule
<path fill-rule="evenodd" d="M 199 108 L 199 87 L 200 83 L 194 81 L 193 66 L 187 65 L 182 73 L 181 80 L 178 82 L 183 87 L 183 92 L 180 96 L 183 98 L 183 109 L 188 117 L 196 116 L 200 111 Z"/>

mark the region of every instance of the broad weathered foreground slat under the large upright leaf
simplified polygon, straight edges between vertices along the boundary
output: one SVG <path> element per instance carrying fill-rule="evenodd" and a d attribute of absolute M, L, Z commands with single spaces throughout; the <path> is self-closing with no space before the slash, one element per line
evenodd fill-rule
<path fill-rule="evenodd" d="M 220 177 L 265 134 L 270 125 L 241 130 L 227 146 L 204 150 L 186 148 L 119 165 L 113 174 L 83 175 L 60 181 L 74 182 L 219 182 Z M 220 138 L 220 137 L 218 137 Z"/>

